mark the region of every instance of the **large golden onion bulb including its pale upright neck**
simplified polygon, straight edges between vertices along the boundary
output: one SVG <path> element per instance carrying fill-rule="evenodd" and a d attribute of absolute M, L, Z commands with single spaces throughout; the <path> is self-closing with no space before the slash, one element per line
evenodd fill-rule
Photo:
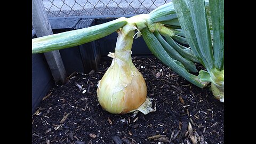
<path fill-rule="evenodd" d="M 103 109 L 112 114 L 130 113 L 147 98 L 145 80 L 131 59 L 134 29 L 127 27 L 123 30 L 129 29 L 129 33 L 122 29 L 117 31 L 115 53 L 108 55 L 113 61 L 98 83 L 98 101 Z"/>

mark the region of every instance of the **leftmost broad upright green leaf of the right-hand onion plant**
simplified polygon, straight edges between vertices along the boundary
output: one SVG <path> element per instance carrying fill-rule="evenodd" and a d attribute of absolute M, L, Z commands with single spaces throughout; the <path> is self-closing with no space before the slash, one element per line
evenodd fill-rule
<path fill-rule="evenodd" d="M 209 71 L 213 68 L 214 61 L 210 30 L 207 28 L 209 24 L 202 1 L 174 0 L 173 4 L 191 50 Z"/>

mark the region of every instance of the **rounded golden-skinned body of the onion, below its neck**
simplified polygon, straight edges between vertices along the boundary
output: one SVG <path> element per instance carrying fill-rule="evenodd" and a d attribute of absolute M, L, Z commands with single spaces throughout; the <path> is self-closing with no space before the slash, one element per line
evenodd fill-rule
<path fill-rule="evenodd" d="M 145 102 L 147 86 L 138 69 L 114 58 L 111 66 L 99 82 L 98 101 L 112 114 L 126 114 Z M 121 64 L 122 63 L 122 64 Z"/>

